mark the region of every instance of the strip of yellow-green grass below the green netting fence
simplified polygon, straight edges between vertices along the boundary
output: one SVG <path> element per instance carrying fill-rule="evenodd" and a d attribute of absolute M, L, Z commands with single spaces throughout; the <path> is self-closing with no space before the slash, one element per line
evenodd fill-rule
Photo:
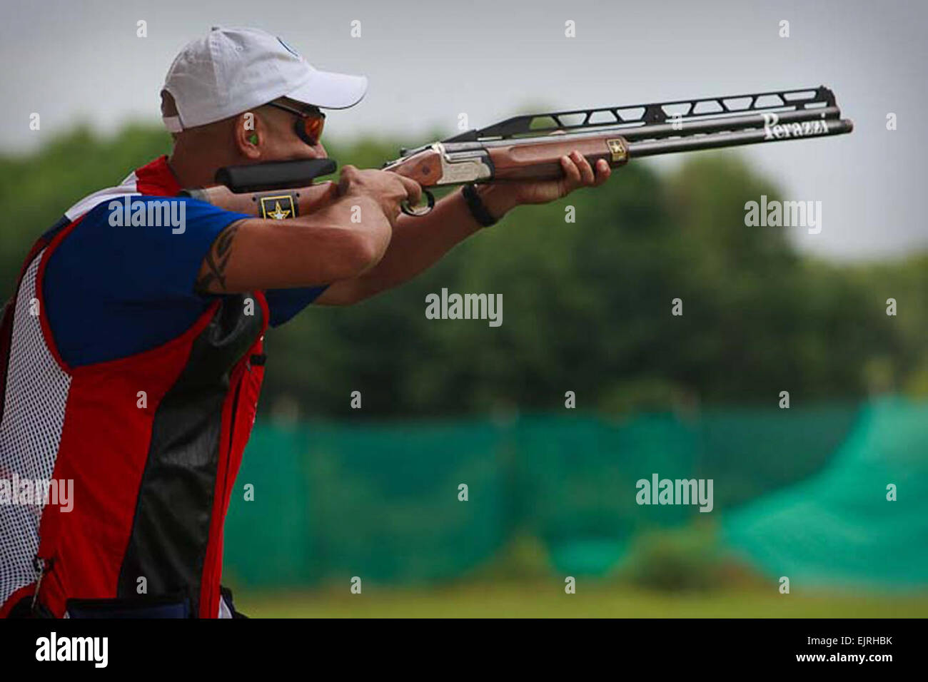
<path fill-rule="evenodd" d="M 769 588 L 664 593 L 581 581 L 574 595 L 551 582 L 236 593 L 254 618 L 911 618 L 928 615 L 928 593 L 793 593 Z"/>

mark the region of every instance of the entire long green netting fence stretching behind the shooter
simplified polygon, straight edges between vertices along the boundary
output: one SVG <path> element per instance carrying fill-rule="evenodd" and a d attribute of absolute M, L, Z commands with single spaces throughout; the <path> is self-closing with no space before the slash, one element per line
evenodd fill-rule
<path fill-rule="evenodd" d="M 875 419 L 875 409 L 888 412 Z M 636 534 L 700 515 L 695 506 L 639 506 L 635 483 L 653 473 L 713 479 L 712 514 L 724 521 L 730 547 L 762 570 L 783 574 L 785 557 L 799 573 L 807 561 L 832 574 L 830 558 L 883 547 L 874 539 L 886 533 L 881 524 L 900 534 L 908 532 L 903 526 L 912 529 L 915 508 L 879 506 L 884 496 L 868 498 L 864 482 L 875 476 L 870 487 L 882 489 L 884 479 L 895 477 L 906 482 L 907 495 L 914 488 L 926 499 L 920 457 L 928 426 L 916 423 L 928 425 L 928 404 L 901 400 L 715 408 L 695 418 L 561 413 L 505 423 L 289 428 L 259 421 L 226 522 L 226 579 L 255 587 L 318 585 L 346 574 L 381 583 L 438 582 L 486 564 L 516 534 L 538 538 L 554 570 L 606 573 Z M 895 443 L 895 458 L 872 460 L 887 439 Z M 253 500 L 245 499 L 248 484 Z M 461 484 L 467 501 L 458 498 Z M 853 495 L 845 497 L 849 488 Z M 813 508 L 800 504 L 804 499 Z M 795 529 L 811 528 L 803 526 L 809 514 L 831 525 L 797 542 Z M 806 552 L 806 541 L 818 542 L 820 555 Z M 909 571 L 878 571 L 873 561 L 852 560 L 843 570 L 877 582 L 928 582 L 924 544 L 921 553 L 911 553 L 920 564 Z"/>

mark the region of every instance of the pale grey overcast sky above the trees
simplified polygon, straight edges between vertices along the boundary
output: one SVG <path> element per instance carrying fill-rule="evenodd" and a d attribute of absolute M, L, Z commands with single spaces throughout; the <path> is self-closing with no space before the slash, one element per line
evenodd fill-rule
<path fill-rule="evenodd" d="M 0 153 L 91 122 L 157 122 L 174 55 L 213 25 L 280 35 L 317 68 L 365 74 L 367 97 L 326 135 L 418 142 L 525 110 L 634 105 L 825 84 L 852 135 L 741 148 L 784 199 L 821 201 L 803 250 L 870 260 L 928 248 L 921 210 L 928 129 L 924 0 L 380 2 L 0 0 Z M 136 36 L 136 22 L 148 36 Z M 780 21 L 790 36 L 780 37 Z M 360 37 L 352 22 L 360 21 Z M 576 36 L 564 35 L 573 20 Z M 32 112 L 40 131 L 29 129 Z M 886 129 L 888 113 L 897 129 Z M 638 161 L 660 168 L 674 159 Z M 114 169 L 119 179 L 124 169 Z M 621 172 L 611 182 L 621 182 Z"/>

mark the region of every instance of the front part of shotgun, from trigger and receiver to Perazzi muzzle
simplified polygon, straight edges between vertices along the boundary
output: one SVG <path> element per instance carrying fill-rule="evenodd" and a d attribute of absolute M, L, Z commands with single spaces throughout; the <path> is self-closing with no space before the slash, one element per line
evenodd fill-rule
<path fill-rule="evenodd" d="M 841 118 L 834 93 L 819 85 L 750 95 L 706 97 L 626 107 L 574 109 L 515 116 L 441 142 L 402 150 L 383 170 L 426 188 L 469 183 L 556 179 L 561 157 L 576 149 L 594 164 L 624 165 L 631 159 L 683 151 L 844 135 L 853 122 Z"/>

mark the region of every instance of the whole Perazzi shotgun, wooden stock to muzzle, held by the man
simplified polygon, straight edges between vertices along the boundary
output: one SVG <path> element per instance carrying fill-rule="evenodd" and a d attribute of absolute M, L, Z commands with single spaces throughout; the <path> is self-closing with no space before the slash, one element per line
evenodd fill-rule
<path fill-rule="evenodd" d="M 574 149 L 590 165 L 605 159 L 615 168 L 630 159 L 843 135 L 853 129 L 853 122 L 841 118 L 834 93 L 820 85 L 515 116 L 431 145 L 401 149 L 400 158 L 384 164 L 383 170 L 405 175 L 423 187 L 426 205 L 404 204 L 402 209 L 408 215 L 424 215 L 435 203 L 432 187 L 556 179 L 563 174 L 561 156 Z M 334 170 L 334 161 L 328 159 L 233 166 L 216 174 L 216 181 L 225 187 L 189 190 L 188 195 L 232 211 L 291 217 L 337 196 L 332 183 L 309 187 L 316 176 Z M 248 194 L 252 192 L 258 193 Z"/>

